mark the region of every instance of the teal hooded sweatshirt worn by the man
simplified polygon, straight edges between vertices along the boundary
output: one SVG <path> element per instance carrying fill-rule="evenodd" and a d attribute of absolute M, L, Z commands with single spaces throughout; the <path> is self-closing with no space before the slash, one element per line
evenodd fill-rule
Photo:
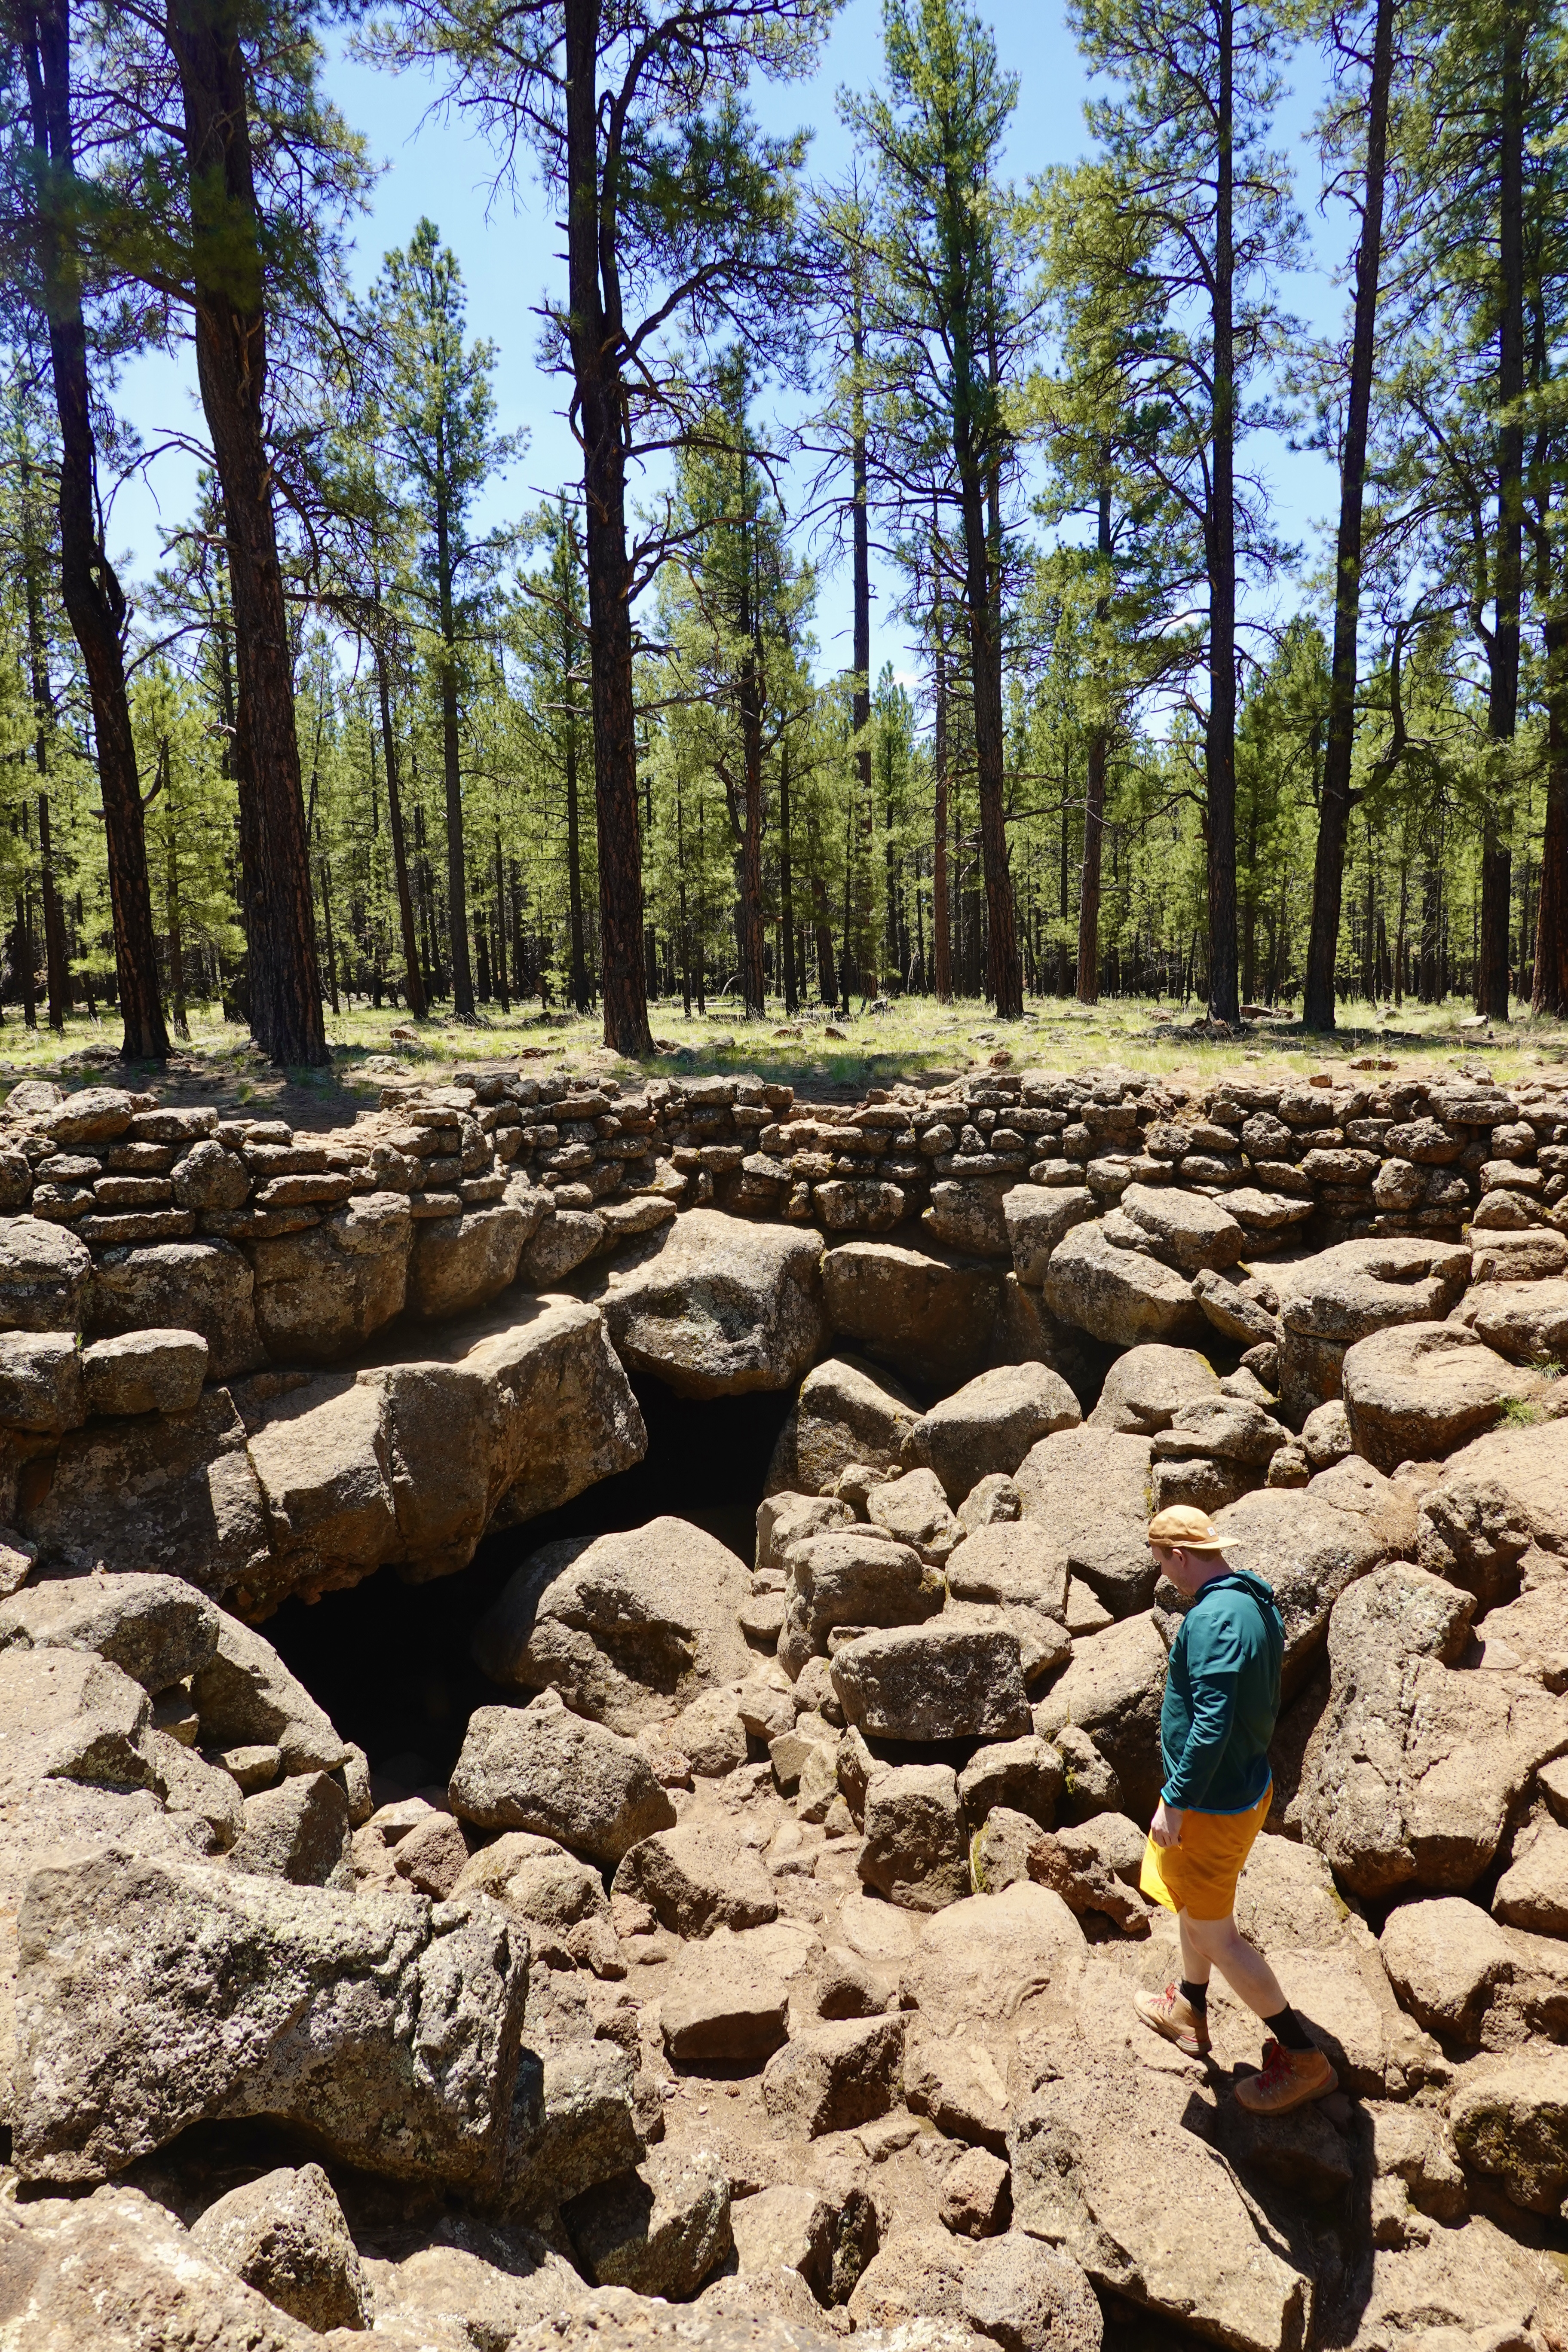
<path fill-rule="evenodd" d="M 1166 1804 L 1251 1813 L 1269 1785 L 1286 1630 L 1262 1576 L 1227 1569 L 1182 1618 L 1171 1644 L 1159 1748 Z"/>

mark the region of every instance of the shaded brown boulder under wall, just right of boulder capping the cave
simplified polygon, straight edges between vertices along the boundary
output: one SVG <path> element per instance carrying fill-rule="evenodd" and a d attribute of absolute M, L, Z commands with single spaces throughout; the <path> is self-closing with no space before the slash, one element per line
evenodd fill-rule
<path fill-rule="evenodd" d="M 842 1242 L 823 1258 L 830 1331 L 933 1388 L 985 1367 L 999 1301 L 994 1265 L 936 1244 Z"/>

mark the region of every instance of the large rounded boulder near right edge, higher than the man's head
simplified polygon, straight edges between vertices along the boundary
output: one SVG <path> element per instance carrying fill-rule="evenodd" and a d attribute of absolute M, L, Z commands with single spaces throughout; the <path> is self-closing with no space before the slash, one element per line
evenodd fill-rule
<path fill-rule="evenodd" d="M 1356 1454 L 1392 1472 L 1441 1461 L 1479 1437 L 1519 1397 L 1547 1383 L 1495 1355 L 1465 1324 L 1394 1324 L 1345 1350 L 1340 1390 Z"/>

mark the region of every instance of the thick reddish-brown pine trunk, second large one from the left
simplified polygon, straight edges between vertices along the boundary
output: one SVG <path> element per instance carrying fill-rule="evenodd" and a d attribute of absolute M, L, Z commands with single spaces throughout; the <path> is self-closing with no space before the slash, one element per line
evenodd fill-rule
<path fill-rule="evenodd" d="M 223 485 L 235 607 L 240 863 L 252 1035 L 275 1063 L 324 1063 L 294 661 L 266 449 L 266 287 L 235 0 L 169 0 L 193 205 L 195 369 Z"/>

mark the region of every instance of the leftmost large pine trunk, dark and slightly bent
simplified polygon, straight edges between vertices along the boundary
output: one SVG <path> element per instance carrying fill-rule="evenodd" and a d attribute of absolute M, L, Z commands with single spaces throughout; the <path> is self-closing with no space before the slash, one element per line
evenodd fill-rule
<path fill-rule="evenodd" d="M 59 207 L 73 202 L 71 0 L 19 9 L 33 148 L 47 198 L 40 212 L 40 275 L 49 325 L 49 369 L 61 430 L 59 529 L 61 595 L 82 649 L 99 795 L 108 849 L 108 903 L 125 1023 L 125 1061 L 167 1061 L 169 1033 L 158 990 L 158 946 L 148 889 L 148 847 L 136 776 L 136 741 L 125 691 L 125 593 L 99 543 L 96 445 L 87 397 L 82 289 Z"/>

